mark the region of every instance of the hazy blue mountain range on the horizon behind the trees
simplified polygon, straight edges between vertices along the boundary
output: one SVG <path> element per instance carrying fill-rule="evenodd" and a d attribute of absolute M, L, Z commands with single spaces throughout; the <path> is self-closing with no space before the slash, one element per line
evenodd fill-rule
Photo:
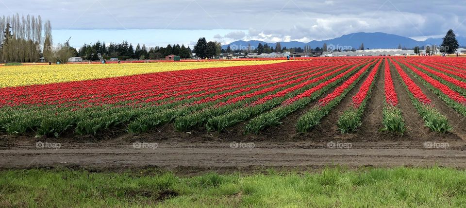
<path fill-rule="evenodd" d="M 466 37 L 456 36 L 460 46 L 466 45 Z M 261 43 L 262 45 L 267 44 L 269 46 L 275 47 L 276 43 L 267 43 L 259 40 L 238 40 L 230 44 L 223 45 L 222 49 L 227 49 L 228 45 L 233 49 L 242 49 L 246 50 L 248 45 L 257 47 Z M 327 46 L 340 46 L 346 48 L 359 49 L 361 43 L 364 43 L 364 48 L 368 49 L 396 49 L 399 44 L 403 48 L 414 48 L 416 46 L 425 46 L 425 45 L 441 45 L 442 38 L 428 38 L 425 41 L 417 41 L 409 37 L 403 37 L 400 35 L 392 35 L 386 33 L 352 33 L 348 35 L 342 35 L 341 37 L 327 39 L 327 40 L 313 40 L 308 43 L 303 43 L 299 41 L 290 41 L 290 42 L 280 42 L 282 47 L 294 48 L 301 47 L 304 49 L 304 46 L 310 46 L 311 48 L 322 47 L 324 43 L 327 43 Z"/>

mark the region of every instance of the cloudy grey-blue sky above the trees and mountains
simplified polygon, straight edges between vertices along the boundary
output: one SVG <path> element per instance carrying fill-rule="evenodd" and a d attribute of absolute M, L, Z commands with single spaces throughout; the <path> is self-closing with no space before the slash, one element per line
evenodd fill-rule
<path fill-rule="evenodd" d="M 50 19 L 54 43 L 192 45 L 322 40 L 384 32 L 423 40 L 448 29 L 466 36 L 465 0 L 0 0 L 0 15 Z"/>

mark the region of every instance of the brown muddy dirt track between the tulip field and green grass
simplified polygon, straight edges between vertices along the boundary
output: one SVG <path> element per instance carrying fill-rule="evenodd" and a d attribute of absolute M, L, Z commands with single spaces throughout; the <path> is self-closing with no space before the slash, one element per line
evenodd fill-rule
<path fill-rule="evenodd" d="M 140 141 L 143 142 L 143 141 Z M 55 145 L 55 146 L 53 146 Z M 44 142 L 0 149 L 0 169 L 72 167 L 91 170 L 124 170 L 160 167 L 168 170 L 245 171 L 268 167 L 321 168 L 332 165 L 347 167 L 393 167 L 434 165 L 466 168 L 466 142 L 436 141 L 425 148 L 424 141 L 380 141 L 334 143 L 300 141 L 231 143 L 178 142 L 157 143 L 107 141 L 99 143 Z M 139 146 L 138 146 L 139 145 Z M 329 148 L 341 146 L 342 148 Z M 444 146 L 441 146 L 444 145 Z M 448 145 L 445 146 L 445 145 Z M 49 146 L 49 148 L 47 148 Z M 145 147 L 144 147 L 145 146 Z M 232 148 L 233 146 L 233 148 Z M 243 146 L 245 148 L 235 148 Z"/>

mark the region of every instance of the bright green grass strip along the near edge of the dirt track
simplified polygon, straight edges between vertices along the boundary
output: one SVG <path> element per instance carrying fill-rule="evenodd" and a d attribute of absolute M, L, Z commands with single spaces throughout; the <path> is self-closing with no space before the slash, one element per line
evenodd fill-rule
<path fill-rule="evenodd" d="M 0 207 L 461 207 L 466 172 L 329 168 L 179 177 L 148 170 L 0 172 Z"/>

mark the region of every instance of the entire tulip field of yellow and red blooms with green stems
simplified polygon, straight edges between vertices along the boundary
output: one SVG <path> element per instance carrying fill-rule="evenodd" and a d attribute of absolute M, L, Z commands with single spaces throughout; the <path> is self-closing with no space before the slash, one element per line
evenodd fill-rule
<path fill-rule="evenodd" d="M 306 134 L 329 114 L 337 116 L 332 125 L 338 134 L 358 134 L 368 109 L 377 104 L 383 107 L 373 113 L 380 114 L 383 134 L 402 137 L 413 128 L 407 119 L 450 134 L 453 123 L 466 117 L 465 58 L 2 66 L 0 75 L 1 135 L 96 136 L 167 129 L 262 135 L 281 126 L 289 134 Z M 383 99 L 374 100 L 376 93 Z M 456 117 L 445 115 L 432 100 L 448 106 Z M 406 118 L 406 103 L 417 110 L 416 118 Z"/>

